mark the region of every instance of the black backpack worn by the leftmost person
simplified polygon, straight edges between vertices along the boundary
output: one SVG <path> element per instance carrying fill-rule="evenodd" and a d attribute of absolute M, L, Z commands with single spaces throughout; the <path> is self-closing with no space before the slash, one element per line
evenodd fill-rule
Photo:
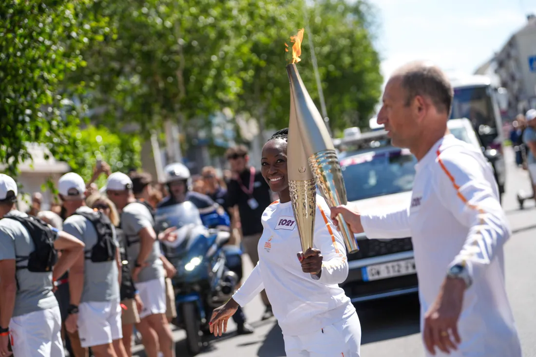
<path fill-rule="evenodd" d="M 4 218 L 16 220 L 26 228 L 34 243 L 34 250 L 29 256 L 16 256 L 17 263 L 28 261 L 28 265 L 17 266 L 17 270 L 28 269 L 33 273 L 46 273 L 52 271 L 58 260 L 58 254 L 54 249 L 56 232 L 39 218 L 28 215 L 20 217 L 18 215 L 6 215 Z"/>

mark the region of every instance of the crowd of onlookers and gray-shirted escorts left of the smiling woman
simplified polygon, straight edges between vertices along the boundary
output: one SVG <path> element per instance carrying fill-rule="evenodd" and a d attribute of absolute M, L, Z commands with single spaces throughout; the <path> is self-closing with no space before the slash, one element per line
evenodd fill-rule
<path fill-rule="evenodd" d="M 0 355 L 38 351 L 60 356 L 65 347 L 74 357 L 124 357 L 132 355 L 133 338 L 137 338 L 147 356 L 174 356 L 170 322 L 177 314 L 172 283 L 176 267 L 162 255 L 160 244 L 175 239 L 175 227 L 158 232 L 155 211 L 185 200 L 198 207 L 201 218 L 222 211 L 231 218 L 229 244 L 241 244 L 252 263 L 258 261 L 260 216 L 272 202 L 272 192 L 249 165 L 244 146 L 230 148 L 227 158 L 232 171 L 225 178 L 218 177 L 215 168 L 205 167 L 200 180 L 195 180 L 187 167 L 174 163 L 165 168 L 163 183 L 136 170 L 112 173 L 106 162 L 99 162 L 88 182 L 76 173 L 59 178 L 61 204 L 42 211 L 42 194 L 35 192 L 26 213 L 17 211 L 17 184 L 2 175 L 0 206 L 5 212 L 0 221 L 0 265 L 9 264 L 14 270 L 0 267 L 0 285 L 12 292 L 0 299 L 0 328 L 5 331 L 0 333 Z M 99 189 L 95 181 L 100 175 L 106 175 L 107 181 Z M 40 230 L 27 230 L 26 222 L 40 225 Z M 46 232 L 49 240 L 36 240 L 35 232 Z M 45 248 L 57 251 L 57 263 L 50 260 L 44 270 L 21 265 L 23 256 L 32 262 L 46 261 L 29 254 Z M 83 258 L 73 259 L 76 254 Z M 267 319 L 273 313 L 266 295 L 262 296 L 263 319 Z M 237 333 L 254 332 L 242 311 L 234 321 Z M 39 330 L 38 322 L 50 326 L 46 333 Z"/>

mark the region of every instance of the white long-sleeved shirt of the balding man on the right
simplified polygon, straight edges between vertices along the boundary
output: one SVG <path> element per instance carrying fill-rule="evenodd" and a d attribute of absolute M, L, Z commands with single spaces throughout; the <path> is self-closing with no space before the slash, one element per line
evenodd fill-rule
<path fill-rule="evenodd" d="M 466 264 L 473 284 L 458 322 L 461 344 L 450 357 L 520 357 L 504 283 L 503 244 L 510 228 L 492 169 L 481 152 L 452 135 L 439 140 L 415 169 L 406 209 L 362 215 L 367 237 L 412 237 L 421 328 L 449 266 Z"/>

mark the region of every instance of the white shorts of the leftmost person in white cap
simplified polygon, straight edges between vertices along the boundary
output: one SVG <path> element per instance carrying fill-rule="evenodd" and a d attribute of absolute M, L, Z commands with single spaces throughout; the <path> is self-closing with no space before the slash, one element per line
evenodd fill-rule
<path fill-rule="evenodd" d="M 14 356 L 64 357 L 59 307 L 11 318 Z"/>

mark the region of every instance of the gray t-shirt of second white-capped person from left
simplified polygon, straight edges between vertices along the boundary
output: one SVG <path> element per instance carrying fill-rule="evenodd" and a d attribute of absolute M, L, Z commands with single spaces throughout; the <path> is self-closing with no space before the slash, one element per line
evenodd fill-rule
<path fill-rule="evenodd" d="M 93 212 L 90 207 L 82 206 L 76 212 Z M 114 241 L 119 246 L 115 233 Z M 86 244 L 86 251 L 91 251 L 97 243 L 97 232 L 91 221 L 79 214 L 73 214 L 63 222 L 63 230 Z M 114 301 L 119 299 L 119 281 L 117 262 L 93 263 L 91 259 L 84 262 L 84 290 L 80 302 Z"/>

